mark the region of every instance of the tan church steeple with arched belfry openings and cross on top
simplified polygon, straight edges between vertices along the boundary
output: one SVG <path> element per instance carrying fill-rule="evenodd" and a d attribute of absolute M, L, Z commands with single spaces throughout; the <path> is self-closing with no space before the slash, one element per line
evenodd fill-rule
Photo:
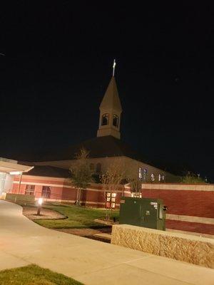
<path fill-rule="evenodd" d="M 112 135 L 113 137 L 120 139 L 122 107 L 121 100 L 118 95 L 116 80 L 114 78 L 115 66 L 116 63 L 114 61 L 113 76 L 108 84 L 108 88 L 100 105 L 100 120 L 97 136 L 103 137 L 106 135 Z"/>

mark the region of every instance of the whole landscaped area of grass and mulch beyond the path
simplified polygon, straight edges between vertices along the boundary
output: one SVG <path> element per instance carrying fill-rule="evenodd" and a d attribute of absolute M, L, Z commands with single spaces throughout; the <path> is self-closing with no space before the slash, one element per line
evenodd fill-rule
<path fill-rule="evenodd" d="M 46 203 L 41 208 L 41 216 L 37 216 L 35 203 L 19 202 L 19 204 L 23 207 L 23 214 L 26 217 L 43 227 L 96 239 L 101 242 L 110 242 L 109 234 L 111 234 L 111 226 L 114 223 L 105 221 L 105 209 L 79 207 L 71 204 Z M 112 213 L 113 217 L 118 219 L 118 210 Z M 108 237 L 105 237 L 105 234 Z"/>

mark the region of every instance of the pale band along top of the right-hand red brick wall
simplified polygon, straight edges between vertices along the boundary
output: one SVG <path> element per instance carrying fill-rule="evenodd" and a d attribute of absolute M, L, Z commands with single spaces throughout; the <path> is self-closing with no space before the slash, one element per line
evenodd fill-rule
<path fill-rule="evenodd" d="M 151 190 L 184 190 L 184 191 L 214 191 L 214 185 L 210 184 L 169 184 L 169 183 L 143 183 L 143 189 L 151 189 Z"/>

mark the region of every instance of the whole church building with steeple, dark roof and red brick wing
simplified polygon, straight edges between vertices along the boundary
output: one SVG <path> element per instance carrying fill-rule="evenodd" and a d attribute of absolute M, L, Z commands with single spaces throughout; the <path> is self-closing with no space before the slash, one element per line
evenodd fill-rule
<path fill-rule="evenodd" d="M 114 64 L 115 67 L 115 64 Z M 100 175 L 115 161 L 126 165 L 142 182 L 176 182 L 178 177 L 150 165 L 143 160 L 138 152 L 121 140 L 121 100 L 118 95 L 116 79 L 113 76 L 100 105 L 100 116 L 96 138 L 83 141 L 77 145 L 48 153 L 39 161 L 25 161 L 25 165 L 34 166 L 32 170 L 22 175 L 20 193 L 46 197 L 52 200 L 76 201 L 76 190 L 71 186 L 69 169 L 76 163 L 76 153 L 81 148 L 88 151 L 90 167 L 96 175 Z M 12 192 L 17 192 L 19 177 L 14 178 Z M 102 185 L 93 184 L 91 190 L 86 190 L 82 204 L 103 207 Z M 124 195 L 124 185 L 121 193 Z M 131 190 L 128 190 L 130 195 Z"/>

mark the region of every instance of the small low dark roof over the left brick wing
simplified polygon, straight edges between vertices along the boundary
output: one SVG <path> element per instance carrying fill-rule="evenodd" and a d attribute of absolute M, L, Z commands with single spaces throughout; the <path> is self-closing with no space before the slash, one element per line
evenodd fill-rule
<path fill-rule="evenodd" d="M 58 177 L 58 178 L 68 178 L 71 177 L 69 170 L 64 170 L 58 167 L 52 166 L 34 166 L 32 170 L 24 173 L 24 175 L 33 176 L 45 176 L 45 177 Z"/>

